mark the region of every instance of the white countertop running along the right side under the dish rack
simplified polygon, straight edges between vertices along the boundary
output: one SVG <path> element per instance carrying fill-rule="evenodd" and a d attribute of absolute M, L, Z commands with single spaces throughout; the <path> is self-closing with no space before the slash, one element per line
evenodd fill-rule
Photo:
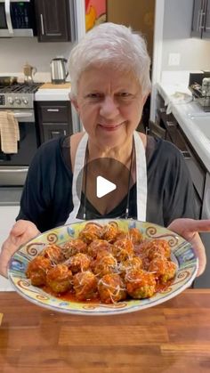
<path fill-rule="evenodd" d="M 166 105 L 170 102 L 170 109 L 174 118 L 179 122 L 192 147 L 198 153 L 198 157 L 203 161 L 206 169 L 210 172 L 210 139 L 200 130 L 196 118 L 196 116 L 209 117 L 210 126 L 210 112 L 205 112 L 195 100 L 188 103 L 174 103 L 172 101 L 172 95 L 175 92 L 188 93 L 191 95 L 186 85 L 164 82 L 159 83 L 157 88 L 158 92 L 165 100 Z M 192 119 L 193 115 L 195 115 L 195 118 Z"/>

